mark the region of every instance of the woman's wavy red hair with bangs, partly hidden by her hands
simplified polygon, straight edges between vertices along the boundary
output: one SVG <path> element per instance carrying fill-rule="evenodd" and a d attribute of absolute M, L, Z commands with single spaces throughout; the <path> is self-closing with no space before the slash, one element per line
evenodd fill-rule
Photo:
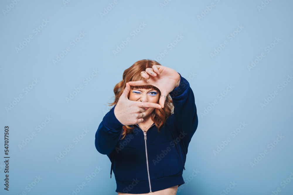
<path fill-rule="evenodd" d="M 122 81 L 117 83 L 114 87 L 114 90 L 113 90 L 114 94 L 115 94 L 115 96 L 114 96 L 115 100 L 113 101 L 113 103 L 109 103 L 108 106 L 113 106 L 113 105 L 117 104 L 118 99 L 121 96 L 121 94 L 123 93 L 127 82 L 145 80 L 145 78 L 140 75 L 140 72 L 145 71 L 146 68 L 152 68 L 153 65 L 161 65 L 161 64 L 154 61 L 154 60 L 149 60 L 149 59 L 139 60 L 139 61 L 135 62 L 132 66 L 130 66 L 129 68 L 124 70 L 123 76 L 122 76 Z M 159 97 L 161 96 L 160 90 L 157 87 L 152 86 L 152 85 L 130 86 L 130 89 L 133 89 L 133 88 L 155 89 L 159 92 Z M 129 95 L 130 94 L 127 95 L 128 98 L 129 98 Z M 159 101 L 157 103 L 159 103 Z M 168 96 L 166 97 L 164 108 L 161 108 L 161 109 L 155 108 L 154 111 L 151 113 L 151 120 L 154 121 L 154 123 L 158 129 L 158 132 L 160 132 L 159 131 L 160 127 L 165 124 L 167 118 L 173 113 L 173 111 L 174 111 L 173 101 L 171 99 L 170 94 L 168 94 Z M 122 130 L 122 138 L 121 139 L 123 139 L 127 133 L 132 132 L 132 130 L 134 129 L 133 126 L 131 127 L 129 125 L 125 125 L 122 128 L 123 128 L 123 130 Z"/>

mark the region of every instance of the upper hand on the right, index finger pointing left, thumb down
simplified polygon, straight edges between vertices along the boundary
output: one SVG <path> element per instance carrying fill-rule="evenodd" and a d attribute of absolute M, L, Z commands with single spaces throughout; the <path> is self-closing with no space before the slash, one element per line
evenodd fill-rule
<path fill-rule="evenodd" d="M 160 90 L 161 95 L 166 97 L 180 83 L 180 75 L 172 68 L 162 65 L 153 65 L 152 68 L 142 71 L 141 75 L 148 80 L 130 81 L 128 84 L 132 86 L 153 85 Z M 165 103 L 165 97 L 163 96 L 159 98 L 159 104 L 162 108 L 164 108 Z"/>

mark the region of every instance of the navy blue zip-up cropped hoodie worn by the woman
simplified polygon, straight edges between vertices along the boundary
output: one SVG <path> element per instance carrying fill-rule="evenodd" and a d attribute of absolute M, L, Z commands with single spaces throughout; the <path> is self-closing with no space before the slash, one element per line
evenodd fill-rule
<path fill-rule="evenodd" d="M 143 194 L 185 183 L 182 173 L 187 149 L 198 124 L 194 94 L 181 75 L 179 86 L 169 94 L 174 113 L 160 132 L 155 123 L 145 134 L 136 124 L 120 139 L 123 125 L 115 117 L 116 105 L 100 123 L 95 145 L 112 163 L 110 174 L 113 169 L 116 192 Z"/>

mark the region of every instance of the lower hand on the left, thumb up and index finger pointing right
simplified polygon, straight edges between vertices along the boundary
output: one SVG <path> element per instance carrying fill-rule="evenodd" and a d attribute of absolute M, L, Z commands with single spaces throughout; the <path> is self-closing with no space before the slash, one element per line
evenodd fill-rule
<path fill-rule="evenodd" d="M 130 85 L 126 83 L 126 87 L 114 108 L 114 114 L 122 125 L 134 125 L 142 122 L 144 120 L 142 113 L 145 116 L 144 108 L 161 108 L 160 104 L 151 102 L 144 102 L 144 108 L 142 108 L 141 101 L 131 101 L 127 98 L 129 92 Z"/>

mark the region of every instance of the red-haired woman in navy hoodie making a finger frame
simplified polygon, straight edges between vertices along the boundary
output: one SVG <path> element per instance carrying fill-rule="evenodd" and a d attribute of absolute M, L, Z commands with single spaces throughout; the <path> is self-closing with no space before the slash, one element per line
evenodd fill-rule
<path fill-rule="evenodd" d="M 152 60 L 127 68 L 114 107 L 96 132 L 96 149 L 112 165 L 118 195 L 176 194 L 197 129 L 194 94 L 175 70 Z"/>

